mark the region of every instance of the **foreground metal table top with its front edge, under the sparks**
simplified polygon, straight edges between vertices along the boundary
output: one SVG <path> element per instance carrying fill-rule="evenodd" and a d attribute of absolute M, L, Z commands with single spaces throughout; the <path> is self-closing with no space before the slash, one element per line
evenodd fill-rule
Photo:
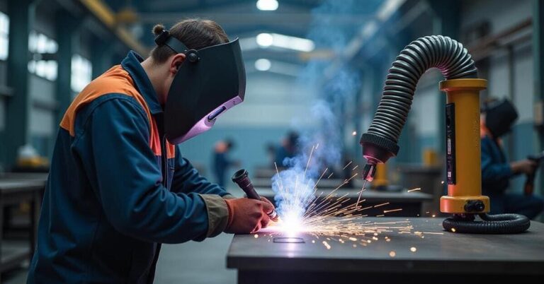
<path fill-rule="evenodd" d="M 533 222 L 528 232 L 517 235 L 469 235 L 443 231 L 441 218 L 361 218 L 357 222 L 390 229 L 377 236 L 369 230 L 356 241 L 348 236 L 327 239 L 297 233 L 291 236 L 304 243 L 277 243 L 277 237 L 286 236 L 272 226 L 257 237 L 235 235 L 227 267 L 240 271 L 544 274 L 543 223 Z M 410 226 L 411 230 L 392 228 Z"/>

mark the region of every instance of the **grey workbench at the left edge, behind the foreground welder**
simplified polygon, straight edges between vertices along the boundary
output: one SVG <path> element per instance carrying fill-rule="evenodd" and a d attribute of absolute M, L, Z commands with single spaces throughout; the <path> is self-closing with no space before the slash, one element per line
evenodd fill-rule
<path fill-rule="evenodd" d="M 34 253 L 42 194 L 45 189 L 44 177 L 44 175 L 28 177 L 21 174 L 0 178 L 0 275 L 28 261 Z M 4 240 L 4 208 L 22 202 L 30 203 L 28 240 L 26 242 Z"/>

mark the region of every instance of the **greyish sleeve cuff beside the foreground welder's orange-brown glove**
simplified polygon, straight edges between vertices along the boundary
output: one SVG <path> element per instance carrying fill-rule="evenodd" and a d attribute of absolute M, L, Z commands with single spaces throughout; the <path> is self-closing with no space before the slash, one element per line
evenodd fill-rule
<path fill-rule="evenodd" d="M 206 237 L 215 237 L 225 230 L 227 223 L 229 222 L 229 209 L 224 198 L 232 196 L 230 194 L 226 196 L 218 196 L 217 194 L 198 194 L 206 204 L 206 211 L 208 211 L 208 232 Z M 234 198 L 234 196 L 232 196 Z"/>

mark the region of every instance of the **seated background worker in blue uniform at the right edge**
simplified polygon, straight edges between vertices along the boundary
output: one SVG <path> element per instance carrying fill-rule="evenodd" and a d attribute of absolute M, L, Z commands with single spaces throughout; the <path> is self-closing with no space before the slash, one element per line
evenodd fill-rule
<path fill-rule="evenodd" d="M 537 166 L 527 159 L 506 160 L 500 138 L 511 130 L 517 117 L 514 105 L 508 100 L 492 100 L 482 108 L 482 192 L 491 199 L 492 213 L 519 213 L 532 219 L 543 212 L 544 200 L 540 196 L 506 192 L 509 179 L 518 174 L 531 174 Z"/>

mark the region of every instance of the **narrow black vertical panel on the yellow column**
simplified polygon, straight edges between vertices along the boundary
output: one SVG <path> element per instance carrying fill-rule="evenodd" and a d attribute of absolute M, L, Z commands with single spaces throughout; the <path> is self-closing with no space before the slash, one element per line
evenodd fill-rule
<path fill-rule="evenodd" d="M 455 105 L 446 105 L 446 178 L 455 184 Z"/>

